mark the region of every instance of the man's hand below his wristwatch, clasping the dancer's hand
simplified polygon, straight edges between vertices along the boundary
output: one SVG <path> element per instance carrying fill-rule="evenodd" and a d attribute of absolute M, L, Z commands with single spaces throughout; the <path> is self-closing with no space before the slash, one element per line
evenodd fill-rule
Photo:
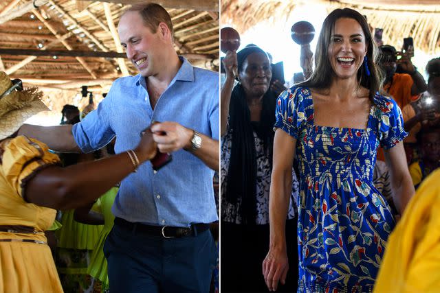
<path fill-rule="evenodd" d="M 158 122 L 151 126 L 153 139 L 160 152 L 175 152 L 191 148 L 191 138 L 194 131 L 181 126 L 177 122 Z"/>

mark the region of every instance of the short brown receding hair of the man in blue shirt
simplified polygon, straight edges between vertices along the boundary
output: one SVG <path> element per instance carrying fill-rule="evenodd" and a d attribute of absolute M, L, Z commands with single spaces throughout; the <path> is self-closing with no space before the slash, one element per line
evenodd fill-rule
<path fill-rule="evenodd" d="M 165 23 L 170 29 L 171 38 L 174 38 L 173 31 L 173 21 L 171 21 L 170 14 L 163 8 L 161 5 L 157 3 L 139 3 L 133 4 L 130 8 L 124 11 L 126 12 L 139 12 L 142 20 L 144 21 L 144 25 L 150 28 L 151 32 L 157 32 L 157 27 L 159 27 L 159 23 Z"/>

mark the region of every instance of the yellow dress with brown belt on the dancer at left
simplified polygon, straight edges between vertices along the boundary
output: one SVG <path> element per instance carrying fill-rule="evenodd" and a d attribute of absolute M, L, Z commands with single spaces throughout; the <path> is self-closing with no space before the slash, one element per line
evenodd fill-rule
<path fill-rule="evenodd" d="M 26 137 L 3 141 L 1 152 L 0 225 L 32 226 L 36 233 L 0 232 L 0 292 L 63 292 L 50 248 L 41 244 L 47 242 L 44 231 L 54 222 L 56 211 L 22 197 L 23 185 L 36 170 L 58 164 L 58 156 L 44 143 Z"/>

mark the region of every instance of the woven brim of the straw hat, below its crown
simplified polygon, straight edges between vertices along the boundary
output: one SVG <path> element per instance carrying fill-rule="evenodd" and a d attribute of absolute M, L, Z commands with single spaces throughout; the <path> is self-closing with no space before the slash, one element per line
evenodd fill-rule
<path fill-rule="evenodd" d="M 41 100 L 36 99 L 21 109 L 11 110 L 10 112 L 5 113 L 5 115 L 1 117 L 0 140 L 9 137 L 11 134 L 19 130 L 23 123 L 30 117 L 48 110 L 49 108 L 47 108 Z"/>

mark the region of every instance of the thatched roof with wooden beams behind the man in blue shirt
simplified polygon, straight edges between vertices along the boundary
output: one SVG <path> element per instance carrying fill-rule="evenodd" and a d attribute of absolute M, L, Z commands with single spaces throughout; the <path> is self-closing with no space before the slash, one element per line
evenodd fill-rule
<path fill-rule="evenodd" d="M 125 58 L 115 28 L 126 5 L 135 2 L 0 1 L 0 70 L 47 88 L 80 89 L 88 84 L 91 90 L 107 91 L 115 78 L 137 73 Z M 173 19 L 177 52 L 193 65 L 217 70 L 218 2 L 156 2 Z"/>

